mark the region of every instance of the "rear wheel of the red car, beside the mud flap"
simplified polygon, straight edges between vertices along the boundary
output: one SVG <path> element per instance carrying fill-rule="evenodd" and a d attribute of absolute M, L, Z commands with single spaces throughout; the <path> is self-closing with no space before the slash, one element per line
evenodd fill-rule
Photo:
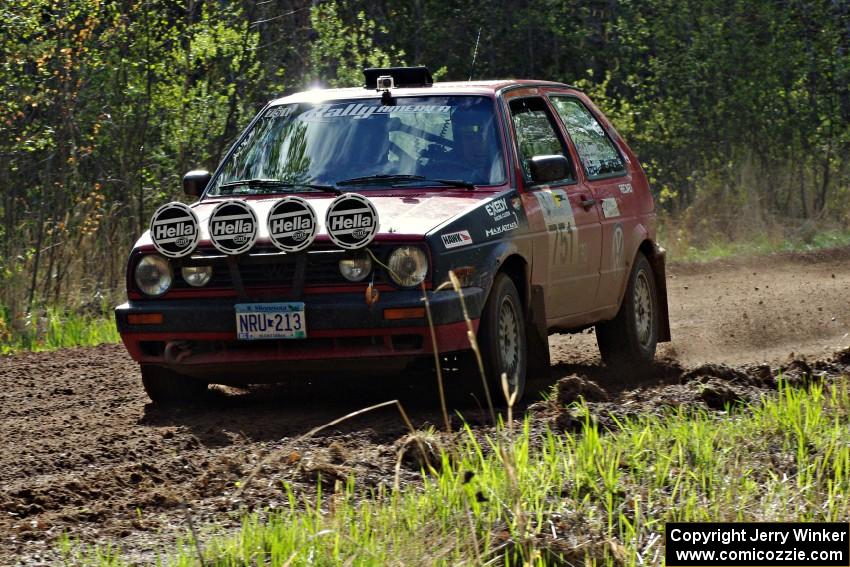
<path fill-rule="evenodd" d="M 617 316 L 596 325 L 596 343 L 609 365 L 649 364 L 658 344 L 658 291 L 652 266 L 638 253 Z"/>

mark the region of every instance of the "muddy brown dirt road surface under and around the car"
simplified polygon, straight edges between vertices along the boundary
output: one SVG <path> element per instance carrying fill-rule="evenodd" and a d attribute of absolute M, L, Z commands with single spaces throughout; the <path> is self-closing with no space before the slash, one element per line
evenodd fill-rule
<path fill-rule="evenodd" d="M 581 394 L 603 415 L 718 409 L 773 390 L 780 369 L 799 382 L 850 371 L 850 249 L 674 266 L 668 288 L 673 342 L 652 371 L 601 366 L 592 333 L 553 336 L 551 376 L 532 385 L 523 408 L 568 430 L 569 411 L 536 402 L 556 382 L 561 401 Z M 282 480 L 305 494 L 320 477 L 332 483 L 352 471 L 363 487 L 392 484 L 406 434 L 393 408 L 297 438 L 392 398 L 416 427 L 439 427 L 435 389 L 428 375 L 369 385 L 328 376 L 214 389 L 200 404 L 169 409 L 148 403 L 120 345 L 0 358 L 0 564 L 57 563 L 63 532 L 150 562 L 185 533 L 184 504 L 197 524 L 226 527 L 246 509 L 283 506 Z M 462 411 L 485 421 L 474 404 Z M 402 469 L 402 483 L 417 478 L 414 466 Z"/>

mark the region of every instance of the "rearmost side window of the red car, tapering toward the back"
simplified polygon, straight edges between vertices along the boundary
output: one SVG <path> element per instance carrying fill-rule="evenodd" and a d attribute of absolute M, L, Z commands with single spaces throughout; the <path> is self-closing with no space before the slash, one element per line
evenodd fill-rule
<path fill-rule="evenodd" d="M 564 121 L 589 178 L 609 177 L 626 172 L 626 164 L 623 163 L 620 152 L 602 125 L 581 101 L 573 97 L 553 96 L 552 104 Z"/>

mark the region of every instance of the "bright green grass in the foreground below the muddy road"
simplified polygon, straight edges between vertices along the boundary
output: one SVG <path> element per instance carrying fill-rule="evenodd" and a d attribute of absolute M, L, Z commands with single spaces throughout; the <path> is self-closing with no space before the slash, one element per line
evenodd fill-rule
<path fill-rule="evenodd" d="M 366 497 L 356 479 L 309 497 L 282 486 L 283 511 L 202 530 L 205 564 L 659 564 L 668 521 L 848 521 L 848 416 L 843 379 L 731 413 L 626 420 L 613 434 L 589 421 L 579 434 L 534 433 L 528 420 L 486 438 L 467 429 L 418 486 Z M 75 563 L 123 564 L 95 552 Z M 163 564 L 197 564 L 185 542 L 166 553 Z"/>

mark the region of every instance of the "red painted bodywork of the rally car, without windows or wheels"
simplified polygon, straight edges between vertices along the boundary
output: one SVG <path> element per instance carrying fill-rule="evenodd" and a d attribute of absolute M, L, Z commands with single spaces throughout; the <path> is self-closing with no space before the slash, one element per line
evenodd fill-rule
<path fill-rule="evenodd" d="M 498 186 L 476 187 L 469 191 L 454 187 L 416 187 L 389 188 L 372 187 L 368 198 L 374 204 L 381 219 L 380 231 L 375 238 L 376 244 L 393 245 L 410 243 L 427 249 L 432 271 L 425 287 L 429 297 L 437 298 L 436 288 L 444 280 L 437 281 L 434 270 L 445 277 L 448 269 L 463 272 L 470 270 L 478 278 L 472 285 L 468 301 L 471 304 L 472 322 L 478 324 L 481 308 L 489 291 L 489 282 L 495 273 L 510 259 L 521 265 L 524 275 L 523 300 L 530 306 L 535 291 L 542 299 L 543 313 L 534 311 L 533 317 L 542 318 L 534 325 L 544 331 L 573 331 L 593 325 L 596 322 L 613 318 L 620 307 L 627 276 L 639 250 L 653 256 L 654 266 L 660 266 L 663 287 L 663 251 L 655 244 L 655 209 L 646 175 L 640 164 L 623 139 L 617 134 L 610 122 L 582 92 L 559 83 L 543 81 L 486 81 L 469 83 L 435 83 L 422 88 L 397 89 L 398 96 L 436 96 L 436 95 L 479 95 L 494 101 L 498 114 L 498 133 L 502 140 L 502 151 L 507 171 L 505 181 Z M 273 101 L 274 107 L 281 104 L 322 103 L 333 100 L 373 99 L 377 95 L 371 89 L 336 89 L 298 93 L 290 97 Z M 552 116 L 557 117 L 556 108 L 549 97 L 568 96 L 580 101 L 602 125 L 617 151 L 626 163 L 625 175 L 604 179 L 590 179 L 580 166 L 581 159 L 574 141 L 560 119 L 558 130 L 566 144 L 570 161 L 575 164 L 575 180 L 559 186 L 528 186 L 524 180 L 518 154 L 517 134 L 511 123 L 511 101 L 529 97 L 538 97 L 546 101 Z M 504 197 L 507 195 L 507 197 Z M 514 195 L 516 201 L 513 200 Z M 323 218 L 333 195 L 324 193 L 301 193 L 315 208 L 317 216 Z M 269 208 L 277 198 L 266 196 L 243 196 L 254 208 L 260 219 L 265 218 Z M 487 239 L 476 233 L 474 244 L 468 248 L 449 249 L 448 244 L 440 245 L 440 237 L 458 227 L 476 226 L 486 219 L 482 209 L 496 200 L 510 200 L 514 218 L 519 219 L 519 227 L 510 229 L 500 239 Z M 221 197 L 208 197 L 193 205 L 201 226 L 199 250 L 209 249 L 207 220 L 213 207 L 221 202 Z M 563 202 L 562 202 L 563 201 Z M 574 221 L 571 230 L 553 229 L 548 217 L 551 203 L 568 206 L 570 218 Z M 549 211 L 549 212 L 547 212 Z M 616 214 L 615 214 L 616 213 Z M 477 219 L 477 220 L 476 220 Z M 466 224 L 464 224 L 466 223 Z M 259 236 L 256 247 L 269 246 L 269 235 L 265 223 L 259 223 Z M 492 230 L 492 229 L 491 229 Z M 499 229 L 501 230 L 501 229 Z M 487 234 L 487 233 L 485 233 Z M 485 242 L 486 241 L 486 242 Z M 444 241 L 445 242 L 445 241 Z M 330 246 L 328 236 L 322 228 L 315 246 Z M 363 311 L 369 321 L 357 326 L 355 311 L 351 311 L 348 323 L 308 330 L 306 341 L 260 341 L 250 347 L 236 339 L 234 329 L 211 330 L 204 328 L 202 320 L 192 330 L 177 328 L 147 329 L 143 325 L 130 325 L 127 316 L 130 313 L 151 306 L 167 308 L 181 305 L 181 302 L 207 300 L 210 302 L 229 302 L 222 309 L 232 309 L 239 298 L 233 287 L 172 289 L 164 296 L 151 301 L 138 291 L 132 271 L 135 261 L 143 254 L 154 250 L 150 235 L 145 233 L 134 247 L 134 253 L 128 265 L 128 297 L 130 304 L 118 308 L 117 318 L 122 339 L 131 356 L 142 364 L 163 364 L 179 369 L 181 372 L 210 375 L 216 368 L 230 364 L 249 363 L 279 366 L 284 361 L 328 361 L 330 359 L 369 359 L 376 362 L 393 358 L 415 358 L 432 355 L 430 328 L 425 319 L 418 318 L 402 321 L 396 325 L 378 322 L 371 311 Z M 475 251 L 475 256 L 470 256 Z M 460 254 L 459 252 L 465 252 Z M 470 265 L 469 258 L 475 258 Z M 510 260 L 514 261 L 514 260 Z M 660 263 L 659 263 L 660 262 Z M 176 264 L 179 265 L 179 262 Z M 327 283 L 311 282 L 307 279 L 303 287 L 303 300 L 325 301 L 338 294 L 348 294 L 347 301 L 357 303 L 357 297 L 363 296 L 369 282 Z M 374 283 L 380 298 L 378 306 L 395 300 L 407 301 L 409 305 L 421 305 L 413 293 L 399 290 L 397 286 L 380 281 Z M 273 286 L 248 286 L 247 300 L 268 300 L 286 297 L 293 293 L 293 286 L 287 283 Z M 663 291 L 663 289 L 662 289 Z M 354 295 L 359 294 L 359 295 Z M 432 294 L 434 294 L 432 296 Z M 353 298 L 353 299 L 352 299 Z M 666 321 L 666 293 L 661 306 L 663 311 L 662 329 L 659 339 L 669 337 Z M 211 303 L 212 305 L 212 303 Z M 333 309 L 327 302 L 322 304 L 327 313 Z M 366 305 L 365 296 L 363 305 Z M 365 309 L 365 307 L 357 307 Z M 371 306 L 369 306 L 371 309 Z M 309 309 L 309 307 L 308 307 Z M 354 307 L 352 307 L 354 309 Z M 448 306 L 436 306 L 437 310 L 457 309 Z M 189 310 L 191 311 L 191 310 Z M 184 311 L 183 313 L 188 312 Z M 323 312 L 324 313 L 324 312 Z M 180 318 L 185 315 L 176 314 Z M 365 315 L 364 315 L 365 316 Z M 166 317 L 168 314 L 166 313 Z M 223 317 L 223 315 L 221 315 Z M 222 319 L 223 320 L 223 319 Z M 467 324 L 459 315 L 445 315 L 435 326 L 438 350 L 441 353 L 461 351 L 469 348 Z M 393 343 L 394 337 L 419 337 L 414 342 Z M 372 343 L 346 341 L 372 337 Z M 196 345 L 209 345 L 199 348 L 182 358 L 179 362 L 169 358 L 165 348 L 171 343 L 192 342 Z M 151 346 L 159 345 L 159 346 Z M 160 348 L 162 347 L 162 348 Z"/>

